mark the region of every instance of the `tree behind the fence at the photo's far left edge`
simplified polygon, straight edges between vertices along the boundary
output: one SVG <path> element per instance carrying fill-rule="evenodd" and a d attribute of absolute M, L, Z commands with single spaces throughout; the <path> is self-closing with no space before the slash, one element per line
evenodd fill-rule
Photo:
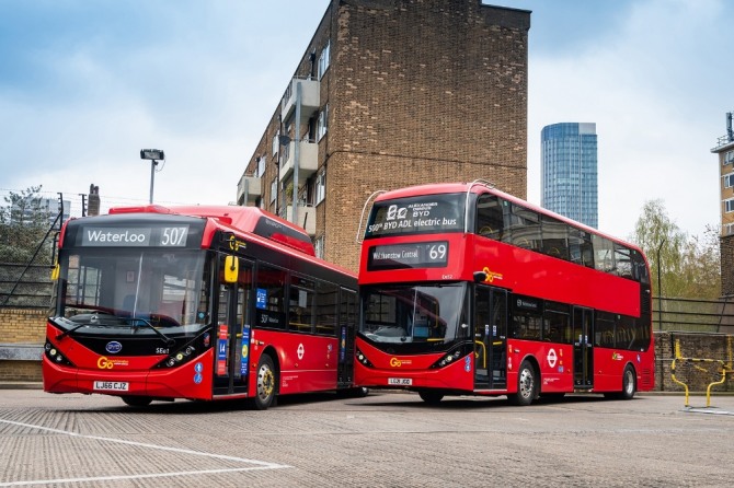
<path fill-rule="evenodd" d="M 28 264 L 44 242 L 53 212 L 39 195 L 42 186 L 20 194 L 10 191 L 0 207 L 0 262 Z M 33 264 L 50 264 L 50 253 L 41 252 Z"/>

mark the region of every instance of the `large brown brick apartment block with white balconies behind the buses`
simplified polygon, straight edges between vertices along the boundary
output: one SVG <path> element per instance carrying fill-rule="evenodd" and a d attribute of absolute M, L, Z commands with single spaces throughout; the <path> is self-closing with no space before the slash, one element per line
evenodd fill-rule
<path fill-rule="evenodd" d="M 529 27 L 480 0 L 332 0 L 238 204 L 294 220 L 295 186 L 319 256 L 356 270 L 376 190 L 483 178 L 525 198 Z"/>

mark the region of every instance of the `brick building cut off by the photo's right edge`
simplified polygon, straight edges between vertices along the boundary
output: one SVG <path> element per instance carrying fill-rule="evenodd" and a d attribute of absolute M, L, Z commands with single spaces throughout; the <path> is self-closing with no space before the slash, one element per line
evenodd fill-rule
<path fill-rule="evenodd" d="M 711 152 L 719 154 L 721 193 L 721 294 L 734 298 L 734 129 L 732 114 L 726 114 L 726 135 L 719 138 Z"/>

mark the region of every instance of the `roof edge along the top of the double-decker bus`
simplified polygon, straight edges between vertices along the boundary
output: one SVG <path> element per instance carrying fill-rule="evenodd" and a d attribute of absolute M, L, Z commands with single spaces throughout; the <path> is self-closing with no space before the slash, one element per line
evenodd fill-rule
<path fill-rule="evenodd" d="M 436 194 L 456 194 L 456 193 L 467 193 L 471 188 L 471 193 L 473 194 L 492 194 L 496 195 L 500 198 L 504 198 L 507 201 L 511 201 L 513 204 L 519 205 L 521 207 L 525 207 L 529 210 L 534 210 L 538 213 L 541 213 L 543 216 L 552 217 L 554 219 L 558 219 L 569 225 L 572 225 L 578 230 L 582 230 L 584 232 L 587 232 L 589 234 L 596 234 L 603 237 L 606 237 L 610 241 L 617 242 L 619 244 L 623 244 L 627 247 L 633 248 L 635 251 L 642 252 L 642 249 L 629 242 L 626 242 L 619 237 L 615 237 L 613 235 L 606 234 L 598 229 L 590 228 L 584 223 L 577 222 L 575 220 L 569 219 L 567 217 L 561 216 L 559 213 L 555 213 L 551 210 L 544 209 L 542 207 L 536 206 L 534 204 L 530 204 L 529 201 L 523 200 L 521 198 L 515 197 L 511 194 L 504 193 L 502 190 L 498 190 L 495 188 L 493 185 L 486 183 L 486 182 L 481 182 L 481 183 L 434 183 L 434 184 L 428 184 L 428 185 L 416 185 L 416 186 L 408 186 L 404 188 L 398 188 L 393 190 L 386 191 L 381 195 L 379 195 L 377 198 L 375 198 L 375 202 L 382 201 L 382 200 L 392 200 L 397 198 L 410 198 L 410 197 L 418 197 L 422 195 L 436 195 Z"/>

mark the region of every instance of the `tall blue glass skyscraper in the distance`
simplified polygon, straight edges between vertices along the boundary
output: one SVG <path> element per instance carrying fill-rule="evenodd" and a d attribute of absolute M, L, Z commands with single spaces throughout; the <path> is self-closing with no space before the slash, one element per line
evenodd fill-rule
<path fill-rule="evenodd" d="M 563 123 L 540 133 L 541 196 L 548 210 L 598 229 L 596 124 Z"/>

